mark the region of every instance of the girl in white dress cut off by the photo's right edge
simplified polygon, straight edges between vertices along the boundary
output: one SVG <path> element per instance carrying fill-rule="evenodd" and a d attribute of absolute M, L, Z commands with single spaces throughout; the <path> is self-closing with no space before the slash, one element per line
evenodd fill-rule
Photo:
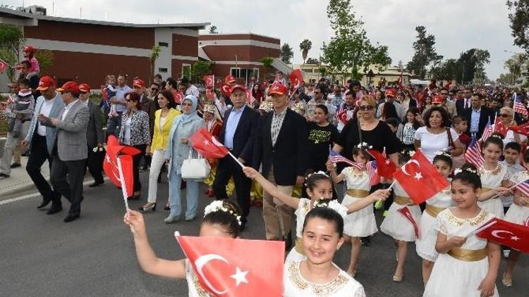
<path fill-rule="evenodd" d="M 523 167 L 528 168 L 529 165 L 529 151 L 523 153 Z M 518 184 L 519 182 L 524 182 L 529 179 L 529 172 L 523 171 L 518 172 L 511 177 L 511 182 L 513 184 Z M 514 191 L 514 201 L 509 207 L 505 215 L 505 220 L 507 222 L 512 222 L 514 224 L 525 225 L 527 220 L 529 220 L 529 195 L 524 194 L 519 189 Z M 513 285 L 513 270 L 516 262 L 520 258 L 520 252 L 511 248 L 509 253 L 509 258 L 507 259 L 507 266 L 503 277 L 501 277 L 501 283 L 504 286 Z"/>

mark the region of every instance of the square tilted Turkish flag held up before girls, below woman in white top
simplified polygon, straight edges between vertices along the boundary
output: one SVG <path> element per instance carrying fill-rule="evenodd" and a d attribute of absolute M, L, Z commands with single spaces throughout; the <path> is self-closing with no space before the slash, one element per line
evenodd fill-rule
<path fill-rule="evenodd" d="M 421 151 L 415 151 L 411 160 L 396 170 L 394 178 L 415 204 L 426 201 L 449 185 Z"/>

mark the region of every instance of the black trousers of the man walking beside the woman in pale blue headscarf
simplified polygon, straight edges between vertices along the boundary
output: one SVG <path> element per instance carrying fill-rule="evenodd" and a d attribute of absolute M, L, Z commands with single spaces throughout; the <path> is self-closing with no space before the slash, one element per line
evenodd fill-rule
<path fill-rule="evenodd" d="M 238 165 L 231 156 L 219 159 L 217 173 L 213 182 L 213 191 L 217 199 L 228 199 L 226 184 L 228 184 L 232 176 L 233 182 L 235 182 L 237 203 L 243 211 L 241 221 L 246 222 L 246 217 L 250 213 L 250 188 L 252 187 L 252 180 L 246 177 L 241 165 Z"/>

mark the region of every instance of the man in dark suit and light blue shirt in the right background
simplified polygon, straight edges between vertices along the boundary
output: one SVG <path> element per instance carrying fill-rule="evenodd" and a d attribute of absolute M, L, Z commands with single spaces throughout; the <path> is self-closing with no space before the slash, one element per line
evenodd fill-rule
<path fill-rule="evenodd" d="M 472 107 L 466 108 L 463 115 L 468 119 L 467 134 L 468 136 L 475 135 L 476 139 L 480 139 L 487 122 L 494 122 L 494 110 L 482 106 L 483 95 L 475 93 L 472 95 Z"/>

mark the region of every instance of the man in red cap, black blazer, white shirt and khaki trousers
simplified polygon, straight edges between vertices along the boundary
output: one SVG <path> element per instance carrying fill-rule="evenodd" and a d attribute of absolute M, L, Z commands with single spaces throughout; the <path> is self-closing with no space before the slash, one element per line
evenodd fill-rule
<path fill-rule="evenodd" d="M 294 185 L 301 185 L 305 180 L 307 123 L 303 116 L 288 108 L 286 86 L 274 83 L 268 94 L 272 96 L 274 110 L 264 115 L 257 127 L 253 168 L 258 170 L 262 162 L 262 175 L 280 191 L 291 195 Z M 283 239 L 288 248 L 293 210 L 276 205 L 274 198 L 265 191 L 262 215 L 267 239 Z"/>

